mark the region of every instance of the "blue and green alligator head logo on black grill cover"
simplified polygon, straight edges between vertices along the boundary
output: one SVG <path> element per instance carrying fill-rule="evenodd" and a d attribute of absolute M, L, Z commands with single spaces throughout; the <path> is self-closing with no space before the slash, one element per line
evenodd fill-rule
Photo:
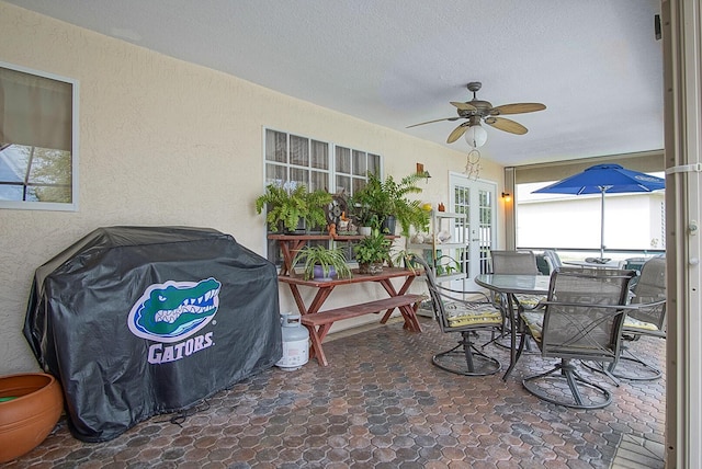
<path fill-rule="evenodd" d="M 150 285 L 129 311 L 129 330 L 151 341 L 185 339 L 207 325 L 217 313 L 220 287 L 212 277 Z"/>

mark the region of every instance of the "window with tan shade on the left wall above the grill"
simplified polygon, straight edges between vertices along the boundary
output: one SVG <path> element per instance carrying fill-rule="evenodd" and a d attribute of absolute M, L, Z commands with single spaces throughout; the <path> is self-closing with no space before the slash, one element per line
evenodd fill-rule
<path fill-rule="evenodd" d="M 0 62 L 0 208 L 76 209 L 77 88 Z"/>

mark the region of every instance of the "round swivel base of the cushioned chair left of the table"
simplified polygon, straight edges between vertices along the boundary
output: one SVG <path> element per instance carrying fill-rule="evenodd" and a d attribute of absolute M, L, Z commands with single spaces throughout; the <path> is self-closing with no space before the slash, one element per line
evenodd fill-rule
<path fill-rule="evenodd" d="M 497 358 L 480 352 L 473 341 L 471 334 L 474 332 L 461 332 L 458 344 L 450 351 L 439 353 L 431 358 L 431 362 L 439 368 L 464 376 L 488 376 L 495 375 L 502 365 Z"/>

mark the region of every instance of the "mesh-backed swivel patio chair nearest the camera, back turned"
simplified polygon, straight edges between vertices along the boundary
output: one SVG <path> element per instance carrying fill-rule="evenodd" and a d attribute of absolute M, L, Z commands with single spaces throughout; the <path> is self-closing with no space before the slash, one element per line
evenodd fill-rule
<path fill-rule="evenodd" d="M 547 402 L 600 409 L 612 401 L 602 386 L 585 379 L 574 361 L 615 363 L 620 355 L 631 271 L 556 271 L 551 277 L 543 313 L 523 311 L 526 325 L 517 361 L 526 336 L 534 339 L 541 355 L 559 358 L 552 369 L 523 379 L 524 388 Z"/>

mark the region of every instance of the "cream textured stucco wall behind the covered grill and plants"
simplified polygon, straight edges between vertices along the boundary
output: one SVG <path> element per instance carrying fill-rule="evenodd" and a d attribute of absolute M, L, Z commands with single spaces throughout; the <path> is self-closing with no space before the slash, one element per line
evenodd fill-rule
<path fill-rule="evenodd" d="M 37 366 L 21 333 L 34 270 L 98 227 L 212 227 L 263 253 L 253 199 L 264 126 L 383 155 L 397 176 L 423 162 L 433 178 L 422 198 L 433 203 L 448 201 L 448 171 L 465 164 L 462 152 L 2 1 L 0 39 L 0 60 L 80 83 L 79 210 L 0 210 L 0 374 Z M 501 186 L 501 168 L 482 162 L 482 178 Z M 360 295 L 384 294 L 349 287 L 329 305 Z"/>

